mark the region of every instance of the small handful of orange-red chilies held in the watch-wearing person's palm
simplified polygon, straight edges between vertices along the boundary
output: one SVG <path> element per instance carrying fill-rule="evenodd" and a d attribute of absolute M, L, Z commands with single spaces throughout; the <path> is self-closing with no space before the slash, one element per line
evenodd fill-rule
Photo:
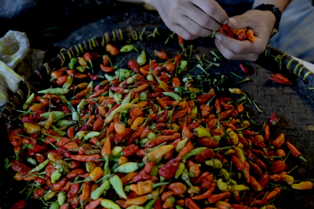
<path fill-rule="evenodd" d="M 222 25 L 222 27 L 216 32 L 223 33 L 232 39 L 237 39 L 240 41 L 243 41 L 243 40 L 250 40 L 253 42 L 256 41 L 253 31 L 247 28 L 233 29 L 225 24 L 225 25 Z"/>

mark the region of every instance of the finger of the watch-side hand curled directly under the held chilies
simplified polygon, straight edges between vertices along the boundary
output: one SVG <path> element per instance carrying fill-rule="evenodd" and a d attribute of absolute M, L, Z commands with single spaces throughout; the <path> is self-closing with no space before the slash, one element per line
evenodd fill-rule
<path fill-rule="evenodd" d="M 219 40 L 219 42 L 224 45 L 226 48 L 234 51 L 236 53 L 262 53 L 263 48 L 260 47 L 259 42 L 252 42 L 249 40 L 237 40 L 232 39 L 229 36 L 226 36 L 222 33 L 216 33 L 215 38 Z M 257 37 L 258 39 L 258 37 Z"/>

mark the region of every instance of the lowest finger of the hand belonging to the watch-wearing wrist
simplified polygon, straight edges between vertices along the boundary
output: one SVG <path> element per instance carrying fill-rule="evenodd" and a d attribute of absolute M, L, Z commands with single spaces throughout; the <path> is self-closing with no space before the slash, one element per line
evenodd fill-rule
<path fill-rule="evenodd" d="M 249 61 L 256 61 L 258 58 L 258 54 L 254 53 L 236 53 L 231 51 L 230 49 L 226 48 L 224 45 L 220 43 L 218 39 L 215 39 L 215 45 L 220 51 L 222 55 L 228 60 L 249 60 Z"/>

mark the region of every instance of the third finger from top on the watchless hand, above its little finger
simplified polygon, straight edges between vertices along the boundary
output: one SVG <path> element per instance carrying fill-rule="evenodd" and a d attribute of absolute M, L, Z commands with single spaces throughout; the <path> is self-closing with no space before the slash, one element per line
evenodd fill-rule
<path fill-rule="evenodd" d="M 180 18 L 179 24 L 183 26 L 192 35 L 207 37 L 213 33 L 213 31 L 200 26 L 187 16 Z"/>

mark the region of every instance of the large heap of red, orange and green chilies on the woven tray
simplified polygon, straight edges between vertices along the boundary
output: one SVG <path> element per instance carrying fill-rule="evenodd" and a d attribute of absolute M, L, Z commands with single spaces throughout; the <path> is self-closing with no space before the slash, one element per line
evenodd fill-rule
<path fill-rule="evenodd" d="M 18 110 L 9 165 L 26 199 L 50 209 L 272 209 L 282 188 L 313 188 L 290 175 L 288 157 L 305 159 L 284 134 L 268 124 L 254 132 L 242 103 L 176 76 L 183 55 L 156 51 L 159 64 L 142 51 L 125 68 L 111 64 L 134 49 L 72 58 Z M 92 73 L 96 60 L 104 78 Z M 81 82 L 88 76 L 102 81 Z"/>

